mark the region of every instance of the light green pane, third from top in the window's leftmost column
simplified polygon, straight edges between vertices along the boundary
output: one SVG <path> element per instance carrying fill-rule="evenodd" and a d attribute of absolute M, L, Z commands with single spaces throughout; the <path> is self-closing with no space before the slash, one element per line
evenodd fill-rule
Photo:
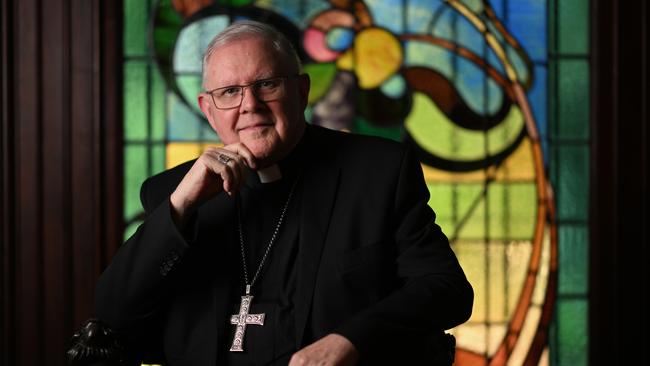
<path fill-rule="evenodd" d="M 127 221 L 142 212 L 140 185 L 148 172 L 147 147 L 127 145 L 124 148 L 124 217 Z"/>

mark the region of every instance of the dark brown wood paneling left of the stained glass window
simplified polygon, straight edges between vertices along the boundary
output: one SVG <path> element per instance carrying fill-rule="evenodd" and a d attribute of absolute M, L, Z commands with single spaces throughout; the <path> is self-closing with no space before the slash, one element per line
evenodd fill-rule
<path fill-rule="evenodd" d="M 2 364 L 64 364 L 121 242 L 121 7 L 2 2 Z"/>

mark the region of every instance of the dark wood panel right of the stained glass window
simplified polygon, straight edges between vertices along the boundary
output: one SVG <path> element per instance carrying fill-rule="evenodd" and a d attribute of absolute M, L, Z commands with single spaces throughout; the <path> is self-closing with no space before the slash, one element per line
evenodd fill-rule
<path fill-rule="evenodd" d="M 647 359 L 646 1 L 592 1 L 590 364 Z"/>

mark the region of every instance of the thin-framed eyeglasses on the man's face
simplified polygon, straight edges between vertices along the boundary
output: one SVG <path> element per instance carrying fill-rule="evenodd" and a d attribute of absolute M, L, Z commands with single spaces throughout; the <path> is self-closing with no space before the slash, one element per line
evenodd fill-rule
<path fill-rule="evenodd" d="M 279 76 L 276 78 L 256 80 L 246 85 L 231 85 L 206 91 L 210 94 L 218 109 L 233 109 L 244 100 L 244 90 L 251 88 L 253 95 L 261 102 L 271 102 L 284 97 L 285 83 L 298 75 Z"/>

